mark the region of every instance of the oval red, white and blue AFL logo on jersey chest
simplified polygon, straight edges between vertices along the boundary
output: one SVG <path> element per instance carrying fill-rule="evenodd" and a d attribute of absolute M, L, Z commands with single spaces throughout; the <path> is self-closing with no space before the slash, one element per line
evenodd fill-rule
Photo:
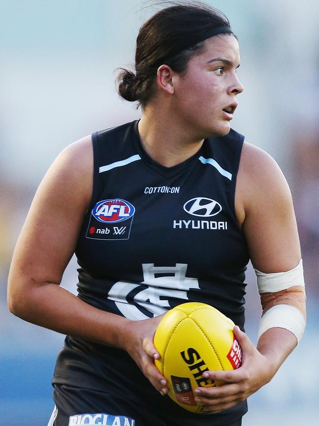
<path fill-rule="evenodd" d="M 135 212 L 135 207 L 124 199 L 105 199 L 99 201 L 92 214 L 99 222 L 115 223 L 126 221 L 131 218 Z"/>

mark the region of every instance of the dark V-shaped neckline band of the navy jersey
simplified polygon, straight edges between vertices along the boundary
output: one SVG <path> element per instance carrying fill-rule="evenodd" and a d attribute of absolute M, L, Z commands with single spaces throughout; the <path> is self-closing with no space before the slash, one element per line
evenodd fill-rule
<path fill-rule="evenodd" d="M 165 177 L 165 178 L 174 177 L 174 176 L 178 175 L 179 173 L 181 173 L 182 171 L 188 169 L 190 166 L 192 166 L 193 163 L 198 161 L 198 158 L 200 157 L 200 153 L 203 149 L 203 145 L 204 145 L 206 140 L 204 140 L 202 146 L 199 148 L 199 150 L 195 154 L 193 154 L 191 157 L 187 158 L 187 160 L 183 161 L 182 163 L 176 164 L 175 166 L 172 166 L 172 167 L 162 166 L 160 163 L 155 161 L 145 151 L 145 149 L 142 145 L 142 142 L 140 140 L 139 133 L 138 133 L 138 127 L 137 127 L 138 122 L 139 122 L 139 120 L 133 121 L 133 126 L 132 126 L 133 139 L 134 139 L 134 143 L 135 143 L 136 149 L 138 151 L 138 154 L 141 157 L 142 161 L 150 169 L 152 169 L 152 170 L 156 171 L 158 174 L 160 174 L 160 176 Z"/>

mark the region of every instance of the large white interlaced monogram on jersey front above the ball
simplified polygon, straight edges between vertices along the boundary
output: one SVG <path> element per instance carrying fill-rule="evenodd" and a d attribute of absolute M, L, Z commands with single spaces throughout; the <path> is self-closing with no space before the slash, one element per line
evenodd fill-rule
<path fill-rule="evenodd" d="M 186 263 L 176 266 L 143 263 L 142 268 L 142 283 L 119 281 L 108 292 L 107 298 L 115 302 L 126 318 L 139 320 L 160 315 L 170 308 L 170 298 L 188 300 L 187 290 L 199 288 L 196 278 L 186 277 Z"/>

